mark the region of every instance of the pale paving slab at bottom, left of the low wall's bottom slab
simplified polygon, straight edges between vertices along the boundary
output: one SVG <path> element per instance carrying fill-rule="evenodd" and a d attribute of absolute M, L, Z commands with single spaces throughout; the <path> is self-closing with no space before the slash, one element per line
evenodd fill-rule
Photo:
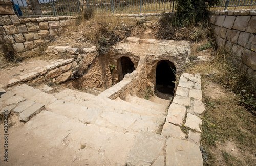
<path fill-rule="evenodd" d="M 149 132 L 140 132 L 130 151 L 126 166 L 151 165 L 152 161 L 163 155 L 166 138 Z"/>

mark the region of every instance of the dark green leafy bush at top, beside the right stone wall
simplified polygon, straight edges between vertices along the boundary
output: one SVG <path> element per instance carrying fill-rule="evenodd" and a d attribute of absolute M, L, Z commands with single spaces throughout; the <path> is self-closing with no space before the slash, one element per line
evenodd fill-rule
<path fill-rule="evenodd" d="M 194 25 L 207 19 L 209 7 L 220 3 L 219 0 L 177 0 L 174 26 Z"/>

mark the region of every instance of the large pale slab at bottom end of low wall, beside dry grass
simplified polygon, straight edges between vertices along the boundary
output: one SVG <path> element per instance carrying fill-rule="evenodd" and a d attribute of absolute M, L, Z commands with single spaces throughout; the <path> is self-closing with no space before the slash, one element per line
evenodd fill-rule
<path fill-rule="evenodd" d="M 166 166 L 203 165 L 202 153 L 198 145 L 187 140 L 168 138 L 166 141 Z"/>

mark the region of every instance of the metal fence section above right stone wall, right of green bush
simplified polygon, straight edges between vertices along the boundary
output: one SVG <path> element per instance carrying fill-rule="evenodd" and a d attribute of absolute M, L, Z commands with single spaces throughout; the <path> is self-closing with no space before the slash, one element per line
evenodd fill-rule
<path fill-rule="evenodd" d="M 228 7 L 236 7 L 240 6 L 253 6 L 256 5 L 255 0 L 221 0 L 219 5 L 216 5 L 212 8 L 223 7 L 224 10 L 227 10 Z"/>

